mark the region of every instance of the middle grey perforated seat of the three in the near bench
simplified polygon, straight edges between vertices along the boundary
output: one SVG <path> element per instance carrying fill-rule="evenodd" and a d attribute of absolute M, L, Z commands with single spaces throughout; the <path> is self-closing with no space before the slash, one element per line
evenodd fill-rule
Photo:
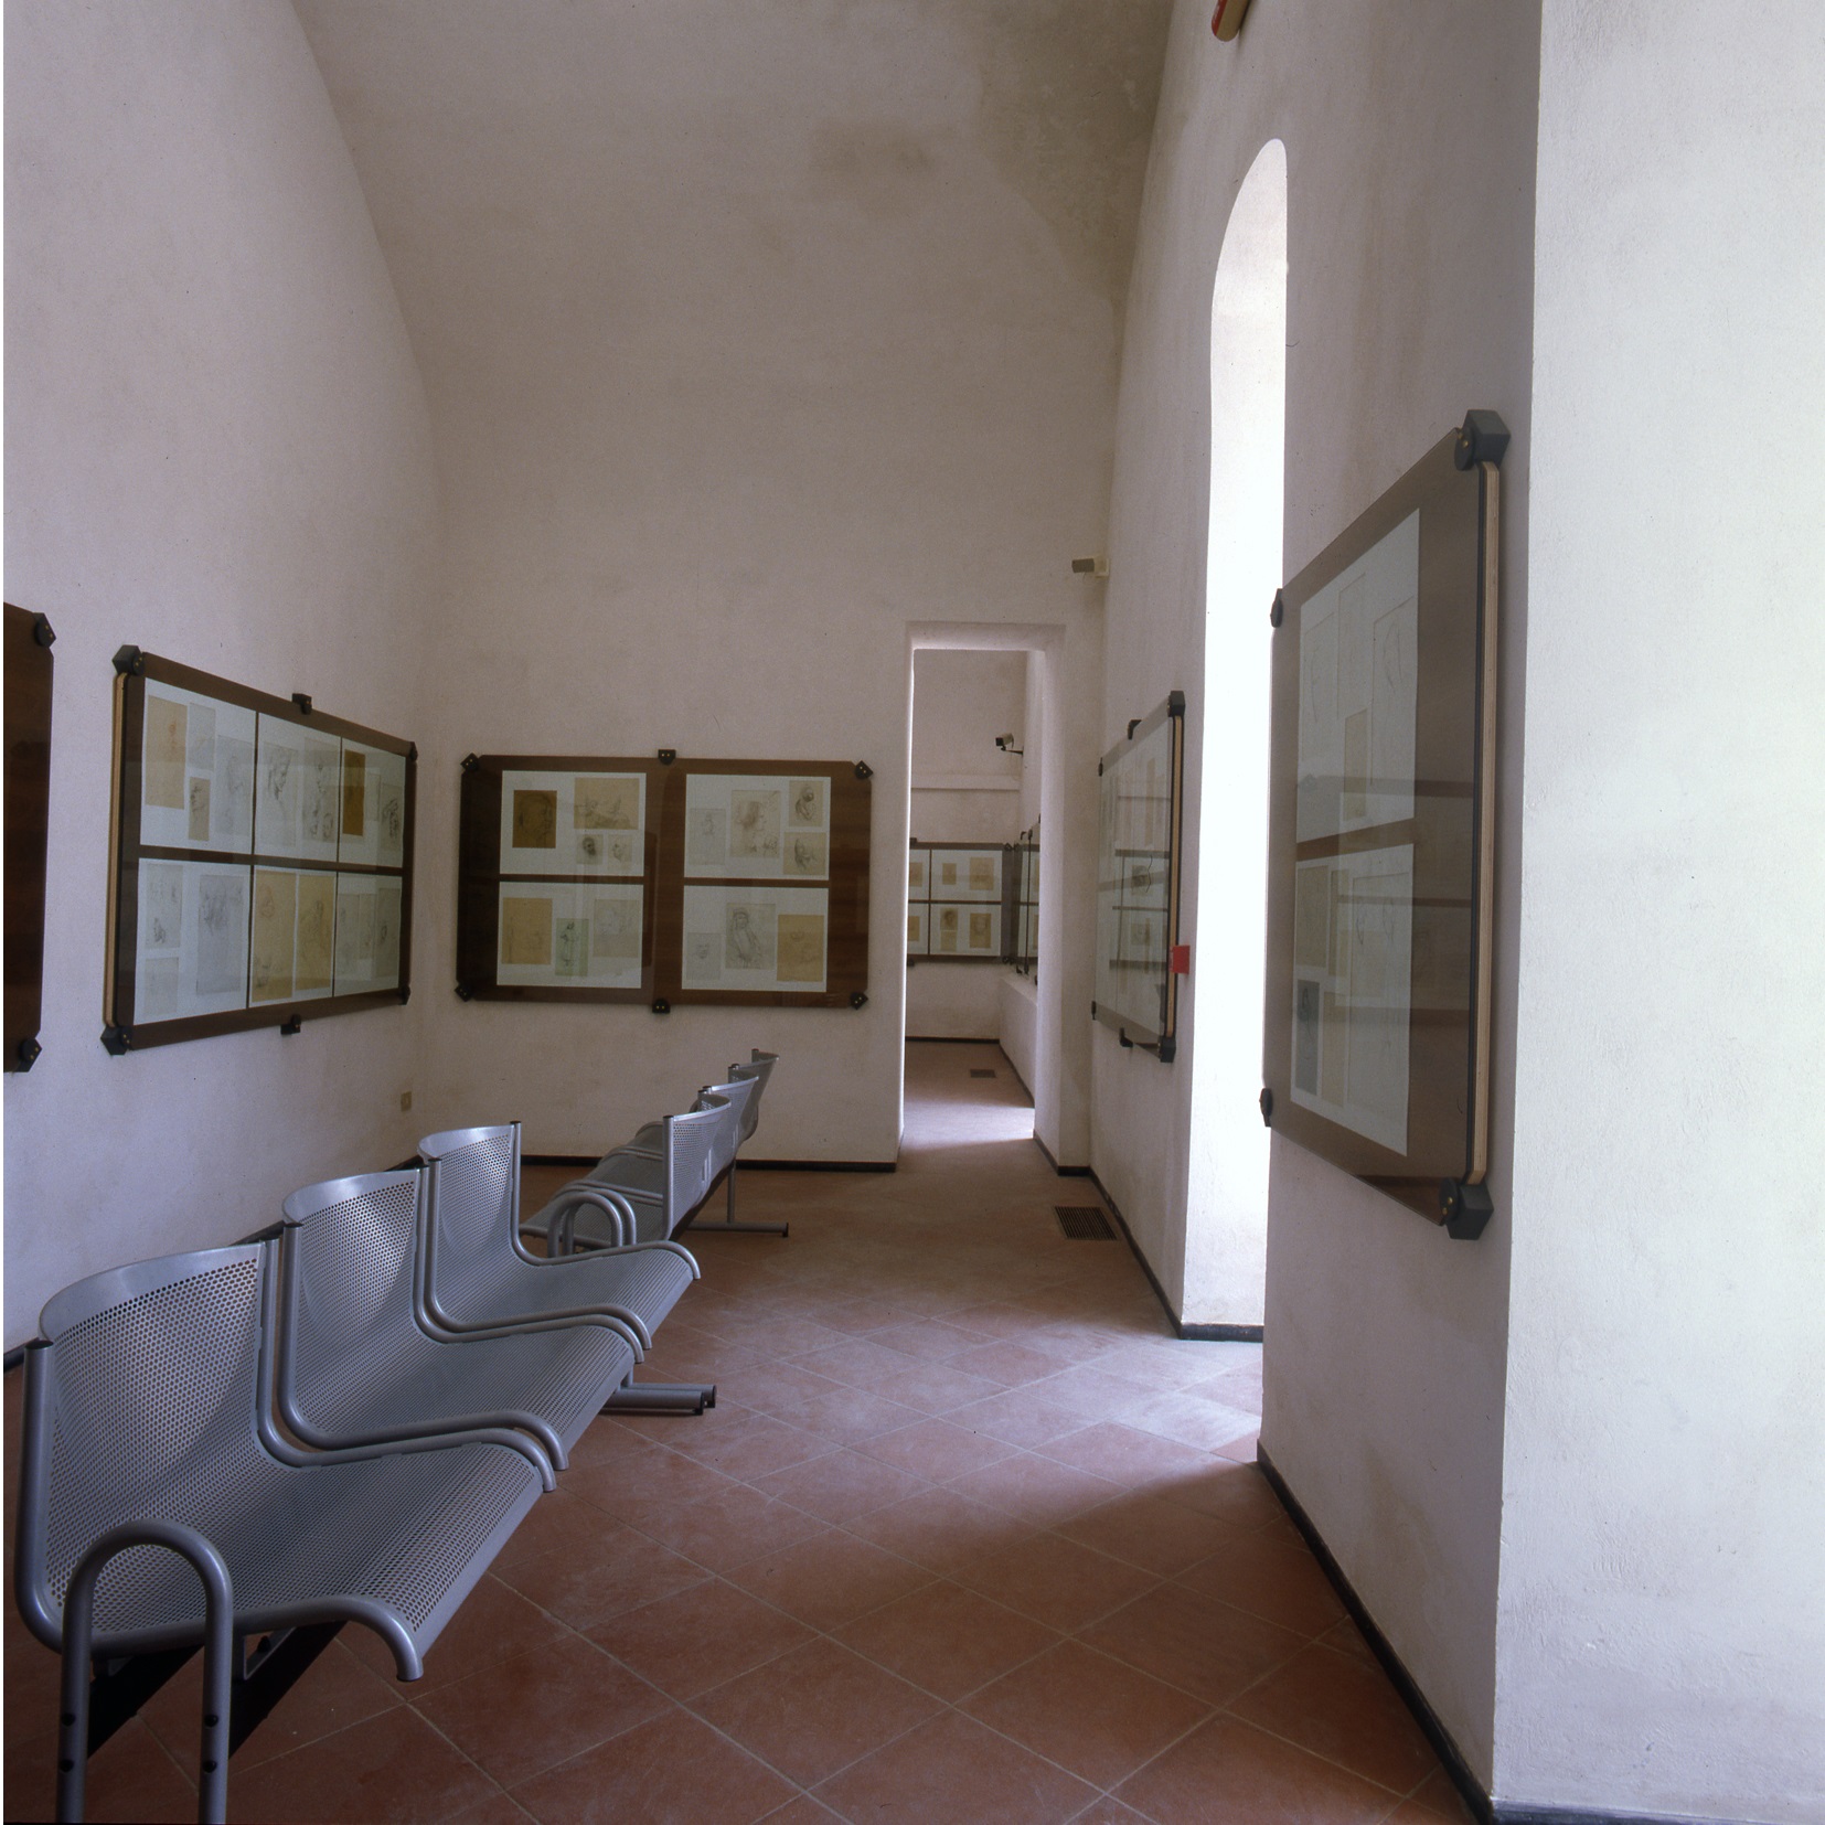
<path fill-rule="evenodd" d="M 502 1334 L 431 1332 L 414 1299 L 425 1204 L 416 1166 L 310 1184 L 285 1201 L 281 1418 L 310 1445 L 516 1427 L 564 1469 L 631 1374 L 637 1334 L 608 1314 Z"/>

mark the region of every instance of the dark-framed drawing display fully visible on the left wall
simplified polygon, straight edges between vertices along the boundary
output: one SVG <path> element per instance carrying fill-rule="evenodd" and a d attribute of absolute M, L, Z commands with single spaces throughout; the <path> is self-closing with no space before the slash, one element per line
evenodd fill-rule
<path fill-rule="evenodd" d="M 102 1044 L 407 1000 L 418 750 L 137 646 L 115 672 Z"/>

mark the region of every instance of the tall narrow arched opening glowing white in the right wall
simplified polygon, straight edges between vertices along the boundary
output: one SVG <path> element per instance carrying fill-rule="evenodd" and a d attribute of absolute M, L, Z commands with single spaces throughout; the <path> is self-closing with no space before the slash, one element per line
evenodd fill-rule
<path fill-rule="evenodd" d="M 1281 580 L 1287 442 L 1287 148 L 1268 141 L 1230 210 L 1210 299 L 1210 548 L 1199 772 L 1195 1038 L 1184 1318 L 1259 1325 L 1268 1135 L 1268 606 Z"/>

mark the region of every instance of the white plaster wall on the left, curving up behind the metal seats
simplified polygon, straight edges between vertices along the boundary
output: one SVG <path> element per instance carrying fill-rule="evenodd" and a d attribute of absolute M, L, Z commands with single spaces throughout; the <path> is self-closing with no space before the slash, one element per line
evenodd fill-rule
<path fill-rule="evenodd" d="M 5 27 L 5 586 L 57 628 L 44 1055 L 5 1079 L 13 1345 L 82 1274 L 234 1241 L 411 1152 L 418 1000 L 102 1051 L 110 659 L 131 642 L 422 735 L 436 496 L 292 9 L 9 5 Z"/>

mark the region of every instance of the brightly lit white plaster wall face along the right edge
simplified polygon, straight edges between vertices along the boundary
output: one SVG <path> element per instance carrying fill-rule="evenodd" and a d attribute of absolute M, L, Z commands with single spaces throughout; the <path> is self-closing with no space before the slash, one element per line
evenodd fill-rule
<path fill-rule="evenodd" d="M 1825 1818 L 1825 27 L 1548 0 L 1496 1792 Z"/>

